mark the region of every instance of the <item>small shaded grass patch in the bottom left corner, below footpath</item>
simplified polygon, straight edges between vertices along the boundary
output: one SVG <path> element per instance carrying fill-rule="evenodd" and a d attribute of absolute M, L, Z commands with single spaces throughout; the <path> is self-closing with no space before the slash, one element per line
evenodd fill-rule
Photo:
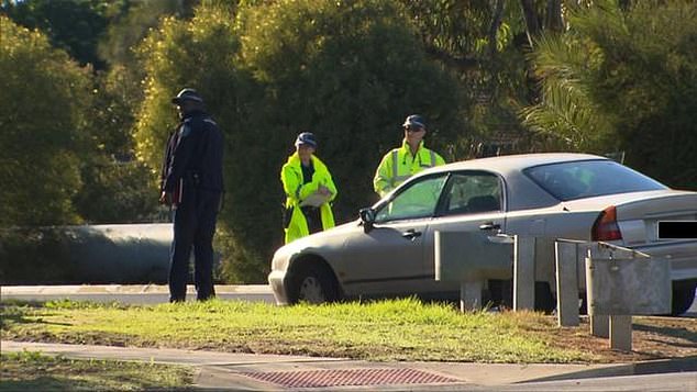
<path fill-rule="evenodd" d="M 40 352 L 0 355 L 0 391 L 182 391 L 190 390 L 190 368 L 75 360 Z"/>

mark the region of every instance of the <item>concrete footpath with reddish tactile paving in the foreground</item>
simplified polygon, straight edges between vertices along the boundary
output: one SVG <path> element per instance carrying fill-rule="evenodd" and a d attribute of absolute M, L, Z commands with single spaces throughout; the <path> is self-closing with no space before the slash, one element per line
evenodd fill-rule
<path fill-rule="evenodd" d="M 488 390 L 538 389 L 550 382 L 678 372 L 672 380 L 697 388 L 697 358 L 674 361 L 601 365 L 517 365 L 471 362 L 372 362 L 341 358 L 230 354 L 169 348 L 107 347 L 1 341 L 2 352 L 41 351 L 76 359 L 114 359 L 184 365 L 196 368 L 196 387 L 233 390 Z M 347 380 L 351 376 L 353 380 Z M 676 373 L 677 374 L 677 373 Z M 682 380 L 682 381 L 681 381 Z M 690 384 L 692 380 L 692 384 Z M 588 381 L 587 385 L 590 385 Z M 578 384 L 578 382 L 576 382 Z M 513 388 L 515 385 L 518 385 Z M 569 385 L 562 382 L 560 385 Z M 664 387 L 667 387 L 664 384 Z M 671 388 L 668 388 L 671 389 Z M 573 390 L 573 389 L 571 389 Z M 685 390 L 682 389 L 681 390 Z"/>

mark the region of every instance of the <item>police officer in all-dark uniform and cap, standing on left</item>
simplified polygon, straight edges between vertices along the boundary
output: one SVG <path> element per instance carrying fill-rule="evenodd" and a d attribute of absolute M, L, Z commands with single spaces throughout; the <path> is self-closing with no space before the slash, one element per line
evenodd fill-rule
<path fill-rule="evenodd" d="M 204 301 L 215 296 L 212 243 L 223 191 L 223 141 L 196 90 L 184 89 L 172 102 L 181 122 L 167 141 L 159 198 L 174 210 L 169 302 L 186 300 L 191 247 L 197 299 Z"/>

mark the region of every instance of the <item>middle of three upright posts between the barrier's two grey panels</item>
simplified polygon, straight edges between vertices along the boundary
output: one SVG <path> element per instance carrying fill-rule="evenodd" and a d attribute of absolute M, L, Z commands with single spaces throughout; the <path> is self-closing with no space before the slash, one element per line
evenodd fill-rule
<path fill-rule="evenodd" d="M 556 242 L 556 320 L 558 326 L 578 325 L 578 244 Z"/>

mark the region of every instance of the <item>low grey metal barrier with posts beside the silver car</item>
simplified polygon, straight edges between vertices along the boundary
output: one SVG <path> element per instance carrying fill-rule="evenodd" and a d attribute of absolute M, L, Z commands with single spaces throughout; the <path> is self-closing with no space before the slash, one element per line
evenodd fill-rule
<path fill-rule="evenodd" d="M 579 324 L 585 289 L 590 333 L 631 350 L 632 315 L 671 312 L 671 265 L 665 259 L 601 242 L 435 232 L 435 280 L 461 283 L 461 311 L 482 307 L 488 279 L 512 272 L 513 311 L 534 307 L 535 281 L 556 288 L 557 324 Z M 512 268 L 512 270 L 511 270 Z"/>

